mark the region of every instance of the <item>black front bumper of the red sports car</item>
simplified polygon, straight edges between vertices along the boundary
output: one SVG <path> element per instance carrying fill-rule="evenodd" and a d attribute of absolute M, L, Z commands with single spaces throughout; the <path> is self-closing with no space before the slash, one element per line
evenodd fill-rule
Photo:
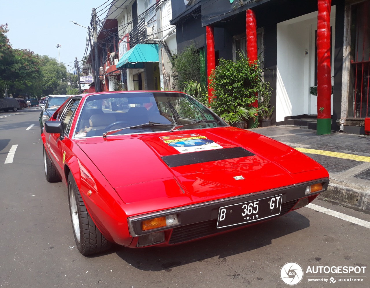
<path fill-rule="evenodd" d="M 316 183 L 322 183 L 323 189 L 317 192 L 310 193 L 309 195 L 306 195 L 305 194 L 306 187 L 308 185 L 313 185 Z M 199 203 L 189 205 L 186 207 L 180 207 L 175 209 L 169 209 L 166 211 L 130 217 L 128 218 L 128 227 L 130 235 L 134 237 L 134 241 L 131 243 L 130 246 L 137 246 L 138 242 L 137 239 L 139 239 L 141 236 L 152 234 L 154 232 L 165 231 L 165 240 L 161 241 L 160 243 L 156 243 L 156 245 L 171 245 L 191 241 L 198 238 L 203 238 L 210 235 L 219 234 L 225 231 L 238 229 L 248 225 L 253 225 L 258 222 L 273 219 L 291 211 L 294 205 L 296 205 L 296 203 L 299 201 L 299 199 L 308 198 L 309 201 L 307 203 L 313 201 L 313 199 L 316 198 L 317 195 L 319 195 L 321 192 L 324 192 L 327 189 L 328 185 L 329 179 L 324 178 L 318 179 L 316 181 L 299 183 L 296 185 L 273 189 L 270 191 L 240 195 L 232 198 L 219 199 L 206 203 Z M 282 205 L 279 215 L 274 215 L 269 218 L 248 222 L 246 224 L 234 225 L 231 227 L 225 228 L 216 227 L 220 207 L 249 201 L 255 201 L 261 198 L 267 198 L 278 194 L 282 194 Z M 157 229 L 151 229 L 150 231 L 142 231 L 141 228 L 142 221 L 173 214 L 177 215 L 178 224 L 173 226 L 161 227 Z"/>

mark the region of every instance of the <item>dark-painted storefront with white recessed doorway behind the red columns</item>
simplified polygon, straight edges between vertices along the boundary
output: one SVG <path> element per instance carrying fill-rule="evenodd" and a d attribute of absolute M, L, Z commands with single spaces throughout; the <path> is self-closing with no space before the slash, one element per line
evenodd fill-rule
<path fill-rule="evenodd" d="M 369 2 L 356 1 L 351 5 L 344 0 L 331 1 L 329 109 L 334 119 L 333 130 L 338 130 L 336 119 L 341 118 L 345 119 L 345 127 L 349 126 L 347 132 L 361 133 L 363 127 L 358 125 L 363 125 L 364 117 L 370 113 Z M 270 102 L 275 107 L 273 124 L 283 125 L 291 118 L 316 117 L 320 108 L 317 107 L 317 0 L 201 0 L 189 5 L 172 0 L 172 6 L 171 24 L 176 24 L 178 50 L 192 40 L 206 50 L 205 30 L 209 26 L 214 30 L 216 59 L 237 59 L 238 52 L 246 52 L 246 11 L 252 10 L 256 19 L 258 60 L 265 68 L 265 80 L 273 88 Z"/>

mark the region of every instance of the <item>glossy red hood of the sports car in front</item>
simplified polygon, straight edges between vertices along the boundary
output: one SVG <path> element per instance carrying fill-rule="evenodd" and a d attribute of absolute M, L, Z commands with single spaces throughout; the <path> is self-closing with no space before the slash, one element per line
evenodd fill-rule
<path fill-rule="evenodd" d="M 186 142 L 189 138 L 201 139 L 205 144 L 189 146 L 194 144 Z M 297 150 L 257 133 L 233 127 L 76 141 L 125 203 L 148 199 L 163 202 L 166 198 L 169 202 L 176 202 L 173 206 L 186 205 L 329 176 L 320 164 Z M 208 146 L 209 149 L 205 149 L 209 144 L 213 148 Z M 239 156 L 235 149 L 240 147 L 250 152 L 250 156 Z M 208 156 L 199 157 L 200 153 L 195 152 L 197 150 L 181 153 L 187 148 L 203 149 Z M 223 156 L 222 159 L 214 156 L 228 148 L 236 154 Z M 174 160 L 168 162 L 168 156 Z"/>

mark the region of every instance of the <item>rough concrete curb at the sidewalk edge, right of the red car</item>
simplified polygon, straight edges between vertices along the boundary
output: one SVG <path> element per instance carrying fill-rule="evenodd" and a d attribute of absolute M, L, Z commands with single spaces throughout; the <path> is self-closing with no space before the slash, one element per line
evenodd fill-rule
<path fill-rule="evenodd" d="M 330 179 L 327 190 L 318 198 L 370 212 L 370 189 L 367 186 Z"/>

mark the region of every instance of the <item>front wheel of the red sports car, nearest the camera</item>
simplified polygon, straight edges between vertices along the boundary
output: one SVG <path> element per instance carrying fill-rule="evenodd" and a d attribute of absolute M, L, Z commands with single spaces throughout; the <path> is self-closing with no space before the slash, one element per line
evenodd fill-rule
<path fill-rule="evenodd" d="M 78 251 L 87 256 L 108 250 L 112 243 L 101 234 L 92 221 L 71 173 L 68 175 L 67 185 L 73 235 Z"/>

